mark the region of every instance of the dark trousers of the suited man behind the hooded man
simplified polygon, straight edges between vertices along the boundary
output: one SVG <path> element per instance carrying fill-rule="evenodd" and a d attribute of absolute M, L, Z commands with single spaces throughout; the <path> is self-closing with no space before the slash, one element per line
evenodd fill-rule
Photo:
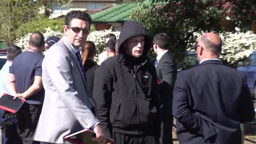
<path fill-rule="evenodd" d="M 163 107 L 161 108 L 161 144 L 173 144 L 173 114 L 172 114 L 172 96 L 161 96 Z"/>

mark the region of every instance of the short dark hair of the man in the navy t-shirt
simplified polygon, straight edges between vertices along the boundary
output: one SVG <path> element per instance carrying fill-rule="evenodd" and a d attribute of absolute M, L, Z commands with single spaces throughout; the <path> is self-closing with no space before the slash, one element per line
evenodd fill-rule
<path fill-rule="evenodd" d="M 29 41 L 32 46 L 41 47 L 45 45 L 45 37 L 39 31 L 33 32 L 32 35 L 30 35 Z"/>

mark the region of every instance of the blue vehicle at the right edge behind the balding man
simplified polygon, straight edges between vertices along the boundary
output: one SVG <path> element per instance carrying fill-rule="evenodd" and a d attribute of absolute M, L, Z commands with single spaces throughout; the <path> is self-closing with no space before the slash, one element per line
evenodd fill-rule
<path fill-rule="evenodd" d="M 256 96 L 256 51 L 252 52 L 245 61 L 238 62 L 237 66 L 237 70 L 246 73 L 250 93 Z"/>

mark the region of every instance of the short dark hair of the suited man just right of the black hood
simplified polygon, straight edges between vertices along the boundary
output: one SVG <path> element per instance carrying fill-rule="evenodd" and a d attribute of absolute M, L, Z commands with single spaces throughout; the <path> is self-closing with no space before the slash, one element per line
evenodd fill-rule
<path fill-rule="evenodd" d="M 158 47 L 165 50 L 169 49 L 169 36 L 166 33 L 156 34 L 153 41 L 158 44 Z"/>

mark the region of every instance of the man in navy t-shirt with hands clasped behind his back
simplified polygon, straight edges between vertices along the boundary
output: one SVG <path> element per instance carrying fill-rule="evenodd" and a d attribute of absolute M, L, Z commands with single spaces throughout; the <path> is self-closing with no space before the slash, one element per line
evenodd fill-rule
<path fill-rule="evenodd" d="M 28 50 L 13 60 L 6 79 L 6 88 L 15 98 L 26 99 L 16 113 L 17 131 L 22 144 L 39 144 L 33 136 L 41 114 L 45 90 L 42 84 L 42 62 L 45 38 L 39 31 L 30 35 Z"/>

